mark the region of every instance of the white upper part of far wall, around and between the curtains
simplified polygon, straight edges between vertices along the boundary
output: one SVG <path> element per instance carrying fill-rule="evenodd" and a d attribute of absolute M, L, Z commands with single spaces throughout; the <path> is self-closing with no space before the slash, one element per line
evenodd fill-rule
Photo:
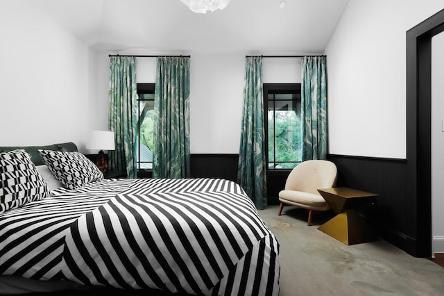
<path fill-rule="evenodd" d="M 137 53 L 144 55 L 144 53 Z M 145 53 L 146 54 L 146 53 Z M 101 110 L 108 106 L 108 54 L 97 57 Z M 155 83 L 155 58 L 137 58 L 137 82 Z M 192 154 L 237 154 L 241 135 L 245 54 L 191 54 L 190 145 Z M 300 83 L 300 58 L 264 58 L 264 83 Z M 103 79 L 106 77 L 106 79 Z M 106 129 L 102 113 L 95 129 Z M 96 116 L 97 117 L 97 116 Z"/>

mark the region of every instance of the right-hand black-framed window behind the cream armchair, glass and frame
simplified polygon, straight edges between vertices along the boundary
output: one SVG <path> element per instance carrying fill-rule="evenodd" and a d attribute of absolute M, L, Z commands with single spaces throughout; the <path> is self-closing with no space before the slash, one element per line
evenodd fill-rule
<path fill-rule="evenodd" d="M 300 83 L 264 83 L 268 170 L 293 169 L 302 161 Z"/>

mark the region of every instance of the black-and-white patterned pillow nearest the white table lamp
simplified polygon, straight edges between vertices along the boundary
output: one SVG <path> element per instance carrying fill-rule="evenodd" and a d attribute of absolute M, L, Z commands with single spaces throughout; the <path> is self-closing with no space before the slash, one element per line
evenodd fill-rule
<path fill-rule="evenodd" d="M 49 170 L 67 189 L 76 189 L 87 183 L 103 180 L 99 167 L 80 152 L 39 150 Z"/>

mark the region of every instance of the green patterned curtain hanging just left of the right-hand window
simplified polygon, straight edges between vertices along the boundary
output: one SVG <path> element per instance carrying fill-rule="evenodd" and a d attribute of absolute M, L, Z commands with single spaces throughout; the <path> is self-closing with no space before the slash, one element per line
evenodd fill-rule
<path fill-rule="evenodd" d="M 247 57 L 237 182 L 256 208 L 267 205 L 262 58 Z"/>

